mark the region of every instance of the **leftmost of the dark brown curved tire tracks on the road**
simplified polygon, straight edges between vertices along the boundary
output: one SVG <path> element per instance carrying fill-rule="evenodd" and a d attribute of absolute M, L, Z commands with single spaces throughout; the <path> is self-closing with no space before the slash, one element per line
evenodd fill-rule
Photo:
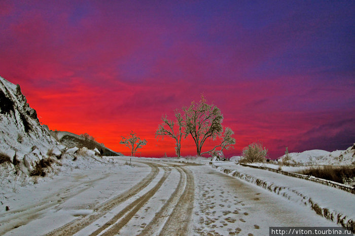
<path fill-rule="evenodd" d="M 105 215 L 111 209 L 115 208 L 116 206 L 118 206 L 122 202 L 125 202 L 128 199 L 130 199 L 132 196 L 137 194 L 141 189 L 148 186 L 156 178 L 156 176 L 159 173 L 158 165 L 152 164 L 149 162 L 141 162 L 141 163 L 144 163 L 144 164 L 151 167 L 151 172 L 148 174 L 147 177 L 145 177 L 143 180 L 141 180 L 140 182 L 135 184 L 133 187 L 131 187 L 127 191 L 116 196 L 116 198 L 95 207 L 94 214 L 78 217 L 77 219 L 70 221 L 69 223 L 61 226 L 58 229 L 55 229 L 54 231 L 48 233 L 47 235 L 72 235 L 72 234 L 75 234 L 75 233 L 79 232 L 81 229 L 90 225 L 95 220 L 97 220 L 100 217 L 102 217 L 103 215 Z"/>

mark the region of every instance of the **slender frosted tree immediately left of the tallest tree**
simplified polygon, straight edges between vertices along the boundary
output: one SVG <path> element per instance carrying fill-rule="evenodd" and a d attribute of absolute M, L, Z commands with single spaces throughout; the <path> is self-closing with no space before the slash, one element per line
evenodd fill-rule
<path fill-rule="evenodd" d="M 183 117 L 180 112 L 177 112 L 175 110 L 175 117 L 176 117 L 176 122 L 170 121 L 167 119 L 167 116 L 161 117 L 161 120 L 163 123 L 159 125 L 157 132 L 155 133 L 156 137 L 161 136 L 162 139 L 164 139 L 164 136 L 171 137 L 175 139 L 175 153 L 178 158 L 180 158 L 181 155 L 181 138 L 183 137 L 183 127 L 184 127 L 184 121 Z M 174 125 L 177 124 L 177 130 L 174 130 Z M 167 128 L 165 128 L 167 126 Z"/>

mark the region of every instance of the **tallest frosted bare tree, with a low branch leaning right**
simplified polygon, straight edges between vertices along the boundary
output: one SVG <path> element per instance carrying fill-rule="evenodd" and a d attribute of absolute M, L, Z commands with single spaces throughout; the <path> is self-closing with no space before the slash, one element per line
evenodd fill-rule
<path fill-rule="evenodd" d="M 222 136 L 223 115 L 221 110 L 214 104 L 207 104 L 206 99 L 201 95 L 201 100 L 196 103 L 192 102 L 189 107 L 184 107 L 185 111 L 185 137 L 189 134 L 192 136 L 196 144 L 197 155 L 201 155 L 201 148 L 208 138 L 216 140 L 217 137 Z M 220 145 L 208 151 L 214 151 L 217 147 L 222 149 L 229 147 L 235 143 L 235 139 L 231 137 L 233 131 L 229 128 L 226 129 L 224 138 Z"/>

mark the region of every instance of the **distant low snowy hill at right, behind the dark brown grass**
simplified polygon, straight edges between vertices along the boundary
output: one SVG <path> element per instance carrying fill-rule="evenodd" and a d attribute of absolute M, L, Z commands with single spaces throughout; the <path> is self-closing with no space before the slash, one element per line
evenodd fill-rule
<path fill-rule="evenodd" d="M 325 151 L 308 150 L 289 153 L 291 162 L 303 165 L 355 165 L 355 144 L 346 150 Z M 279 158 L 279 162 L 286 160 L 286 154 Z"/>

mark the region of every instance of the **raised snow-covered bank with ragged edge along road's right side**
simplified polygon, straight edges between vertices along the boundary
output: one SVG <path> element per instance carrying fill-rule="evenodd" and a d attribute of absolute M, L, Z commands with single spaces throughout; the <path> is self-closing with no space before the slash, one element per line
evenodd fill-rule
<path fill-rule="evenodd" d="M 308 206 L 318 215 L 355 231 L 355 206 L 353 205 L 355 197 L 352 193 L 266 170 L 237 165 L 228 168 L 223 165 L 212 167 L 284 196 L 293 202 Z M 329 201 L 329 199 L 337 199 L 337 202 Z"/>

